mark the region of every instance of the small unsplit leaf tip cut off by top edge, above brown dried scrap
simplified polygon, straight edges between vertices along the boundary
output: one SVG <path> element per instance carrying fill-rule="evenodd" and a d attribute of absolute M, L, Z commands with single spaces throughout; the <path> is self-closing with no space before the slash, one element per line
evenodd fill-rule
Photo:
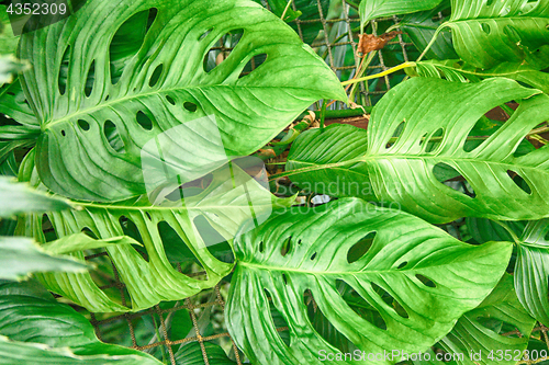
<path fill-rule="evenodd" d="M 360 22 L 365 24 L 376 18 L 393 16 L 430 10 L 442 0 L 362 0 L 359 5 Z"/>

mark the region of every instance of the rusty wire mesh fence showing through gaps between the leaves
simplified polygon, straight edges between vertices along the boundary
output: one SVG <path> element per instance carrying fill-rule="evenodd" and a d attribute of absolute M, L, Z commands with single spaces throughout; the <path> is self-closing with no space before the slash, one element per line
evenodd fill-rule
<path fill-rule="evenodd" d="M 304 16 L 292 21 L 290 25 L 294 27 L 302 41 L 309 43 L 326 61 L 341 81 L 355 77 L 362 61 L 361 57 L 357 55 L 360 20 L 356 8 L 345 0 L 292 0 L 293 10 L 301 10 L 298 5 L 303 3 L 307 4 L 307 9 L 314 10 L 316 8 L 316 11 L 303 14 Z M 264 5 L 269 8 L 266 2 Z M 365 31 L 379 35 L 397 22 L 397 18 L 379 19 L 372 21 Z M 311 30 L 315 33 L 314 37 L 311 36 Z M 211 48 L 205 61 L 214 64 L 222 61 L 235 47 L 237 41 L 238 36 L 235 35 L 229 35 L 229 38 L 224 37 L 219 45 Z M 366 75 L 382 72 L 402 62 L 414 60 L 418 55 L 419 53 L 406 35 L 397 34 L 383 49 L 377 52 L 366 68 Z M 254 58 L 244 73 L 253 71 L 261 61 L 260 58 Z M 360 82 L 357 90 L 357 104 L 374 105 L 388 90 L 401 82 L 404 77 L 405 73 L 401 71 Z M 312 105 L 313 109 L 317 110 L 320 106 L 320 103 Z M 332 110 L 346 107 L 348 106 L 340 102 L 329 106 Z M 88 255 L 87 260 L 103 260 L 112 265 L 111 283 L 101 288 L 119 290 L 122 305 L 127 305 L 128 295 L 125 292 L 125 285 L 108 253 L 93 253 Z M 179 272 L 189 276 L 205 274 L 197 272 L 195 267 L 191 266 L 177 264 Z M 216 357 L 212 355 L 211 344 L 223 349 L 234 363 L 242 364 L 244 355 L 234 344 L 224 323 L 223 311 L 227 287 L 228 282 L 224 281 L 210 290 L 180 301 L 163 303 L 138 312 L 89 313 L 89 317 L 100 340 L 148 352 L 168 364 L 178 364 L 178 356 L 182 354 L 181 346 L 192 343 L 197 346 L 195 350 L 200 351 L 206 365 L 216 364 Z M 179 331 L 180 329 L 184 329 L 187 333 Z M 188 329 L 190 330 L 187 331 Z M 288 328 L 280 326 L 279 331 L 287 332 Z M 534 333 L 538 333 L 540 339 L 547 340 L 547 328 L 539 327 L 535 329 Z M 512 334 L 509 333 L 509 335 Z M 534 362 L 526 363 L 533 364 Z"/>

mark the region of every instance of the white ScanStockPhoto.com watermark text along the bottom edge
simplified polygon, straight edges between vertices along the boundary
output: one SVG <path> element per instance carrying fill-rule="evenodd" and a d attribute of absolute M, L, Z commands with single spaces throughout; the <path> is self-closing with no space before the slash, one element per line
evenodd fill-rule
<path fill-rule="evenodd" d="M 462 353 L 437 353 L 437 354 L 432 354 L 432 353 L 407 353 L 405 351 L 401 350 L 393 350 L 393 351 L 386 351 L 383 350 L 383 352 L 378 352 L 378 353 L 368 353 L 365 351 L 360 350 L 355 350 L 351 353 L 334 353 L 334 352 L 328 352 L 325 350 L 321 350 L 318 352 L 318 360 L 321 362 L 333 362 L 333 361 L 369 361 L 369 362 L 379 362 L 379 363 L 386 363 L 386 362 L 404 362 L 404 361 L 414 361 L 414 362 L 422 362 L 422 361 L 456 361 L 456 362 L 462 362 L 466 358 L 466 355 Z"/>

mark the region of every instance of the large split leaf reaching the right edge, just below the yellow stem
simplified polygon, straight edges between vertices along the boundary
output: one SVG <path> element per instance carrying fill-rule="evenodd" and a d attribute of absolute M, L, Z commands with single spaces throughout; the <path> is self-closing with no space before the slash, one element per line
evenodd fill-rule
<path fill-rule="evenodd" d="M 392 204 L 432 223 L 467 216 L 540 219 L 549 215 L 549 149 L 514 156 L 527 133 L 549 118 L 549 96 L 538 93 L 507 79 L 458 83 L 413 78 L 374 106 L 368 132 L 334 125 L 324 133 L 302 134 L 292 146 L 285 174 L 320 194 Z M 478 121 L 513 100 L 520 103 L 513 117 L 466 151 Z M 475 196 L 440 182 L 440 167 L 463 176 Z"/>

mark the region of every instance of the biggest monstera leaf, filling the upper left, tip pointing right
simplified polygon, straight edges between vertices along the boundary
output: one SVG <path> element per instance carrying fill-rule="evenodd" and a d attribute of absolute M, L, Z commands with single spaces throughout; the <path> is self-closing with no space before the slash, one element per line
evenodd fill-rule
<path fill-rule="evenodd" d="M 206 71 L 204 57 L 231 32 L 242 34 L 238 45 Z M 239 78 L 258 55 L 267 60 Z M 249 155 L 314 101 L 346 99 L 323 60 L 249 0 L 89 0 L 22 35 L 18 56 L 33 66 L 21 83 L 42 129 L 40 176 L 77 199 L 145 193 L 144 146 L 188 122 L 211 121 L 170 145 L 192 170 L 214 147 L 227 157 Z M 181 175 L 181 183 L 195 178 Z"/>

